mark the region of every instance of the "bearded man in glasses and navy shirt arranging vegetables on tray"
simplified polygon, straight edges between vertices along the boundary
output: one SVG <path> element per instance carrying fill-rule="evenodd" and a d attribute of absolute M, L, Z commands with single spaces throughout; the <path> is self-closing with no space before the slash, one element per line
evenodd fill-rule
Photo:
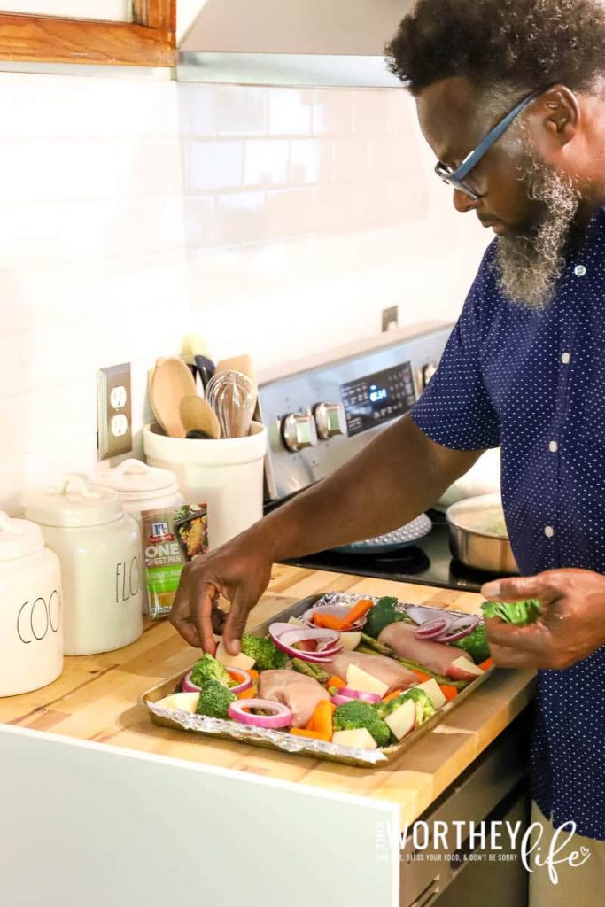
<path fill-rule="evenodd" d="M 532 874 L 532 903 L 592 905 L 605 871 L 605 6 L 419 0 L 388 54 L 455 208 L 496 238 L 411 414 L 186 568 L 171 619 L 214 651 L 222 592 L 237 650 L 273 561 L 395 529 L 502 444 L 522 577 L 483 594 L 538 598 L 542 617 L 525 629 L 490 621 L 490 644 L 499 665 L 541 669 L 532 789 L 543 821 L 592 839 L 581 867 L 558 866 L 556 887 Z"/>

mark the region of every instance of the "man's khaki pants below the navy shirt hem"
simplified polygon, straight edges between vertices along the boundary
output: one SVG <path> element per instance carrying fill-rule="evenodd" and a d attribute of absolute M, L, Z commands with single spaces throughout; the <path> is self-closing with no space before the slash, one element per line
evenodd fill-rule
<path fill-rule="evenodd" d="M 574 834 L 569 844 L 561 846 L 567 839 L 569 832 L 559 834 L 555 848 L 561 847 L 561 852 L 555 854 L 554 870 L 557 873 L 557 883 L 553 884 L 549 876 L 548 866 L 536 866 L 534 855 L 539 853 L 539 862 L 549 853 L 551 840 L 555 829 L 551 822 L 545 819 L 540 809 L 532 803 L 532 824 L 539 822 L 544 829 L 539 843 L 540 852 L 532 851 L 530 857 L 532 873 L 530 874 L 530 900 L 529 907 L 600 907 L 605 903 L 605 841 L 593 841 L 580 834 Z M 537 834 L 537 832 L 536 832 Z M 535 835 L 532 835 L 532 842 Z M 582 851 L 581 848 L 585 848 Z M 590 856 L 582 865 L 571 866 L 565 858 L 577 851 L 576 862 L 580 863 L 588 851 Z"/>

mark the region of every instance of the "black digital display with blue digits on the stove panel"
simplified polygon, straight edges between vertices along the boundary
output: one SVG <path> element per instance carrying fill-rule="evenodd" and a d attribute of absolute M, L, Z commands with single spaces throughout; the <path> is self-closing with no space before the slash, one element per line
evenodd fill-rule
<path fill-rule="evenodd" d="M 415 403 L 412 366 L 385 368 L 340 385 L 349 437 L 407 413 Z"/>

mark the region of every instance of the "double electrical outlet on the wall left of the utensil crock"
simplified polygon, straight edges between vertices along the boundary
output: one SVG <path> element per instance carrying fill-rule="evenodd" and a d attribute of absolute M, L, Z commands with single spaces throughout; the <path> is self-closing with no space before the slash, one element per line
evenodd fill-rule
<path fill-rule="evenodd" d="M 99 459 L 132 451 L 131 364 L 102 368 L 97 376 Z"/>

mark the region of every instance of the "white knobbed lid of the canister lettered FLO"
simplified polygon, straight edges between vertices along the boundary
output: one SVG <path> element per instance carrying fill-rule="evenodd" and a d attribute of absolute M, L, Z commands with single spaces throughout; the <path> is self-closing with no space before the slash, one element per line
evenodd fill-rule
<path fill-rule="evenodd" d="M 43 526 L 100 526 L 121 515 L 120 495 L 93 485 L 83 473 L 70 473 L 58 488 L 32 493 L 25 505 L 25 516 Z"/>

